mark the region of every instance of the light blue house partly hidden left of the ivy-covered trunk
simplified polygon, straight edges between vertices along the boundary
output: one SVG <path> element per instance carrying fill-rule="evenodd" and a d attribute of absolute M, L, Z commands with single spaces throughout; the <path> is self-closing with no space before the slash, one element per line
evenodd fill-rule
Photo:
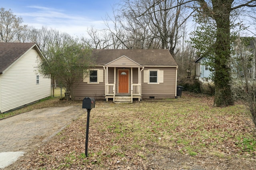
<path fill-rule="evenodd" d="M 205 57 L 199 57 L 196 59 L 196 78 L 198 78 L 201 82 L 212 82 L 211 75 L 212 71 L 210 71 L 209 66 L 206 65 L 207 59 Z"/>

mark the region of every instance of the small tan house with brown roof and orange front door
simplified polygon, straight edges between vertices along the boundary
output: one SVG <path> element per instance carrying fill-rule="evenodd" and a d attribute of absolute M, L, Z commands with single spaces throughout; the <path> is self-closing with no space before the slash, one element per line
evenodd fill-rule
<path fill-rule="evenodd" d="M 75 99 L 84 97 L 132 102 L 142 98 L 175 98 L 177 68 L 165 49 L 95 49 L 96 65 L 76 84 Z"/>

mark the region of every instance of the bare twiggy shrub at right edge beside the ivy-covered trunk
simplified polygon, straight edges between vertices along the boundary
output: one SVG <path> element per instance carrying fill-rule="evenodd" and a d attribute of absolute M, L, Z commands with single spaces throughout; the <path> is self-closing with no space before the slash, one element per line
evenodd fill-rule
<path fill-rule="evenodd" d="M 247 39 L 248 42 L 248 39 Z M 238 38 L 234 48 L 234 56 L 230 59 L 230 82 L 234 99 L 244 102 L 251 113 L 252 121 L 256 127 L 256 41 Z"/>

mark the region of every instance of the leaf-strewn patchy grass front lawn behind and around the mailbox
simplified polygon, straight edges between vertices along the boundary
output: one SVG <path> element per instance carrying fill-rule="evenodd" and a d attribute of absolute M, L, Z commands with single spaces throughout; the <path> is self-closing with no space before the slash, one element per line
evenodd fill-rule
<path fill-rule="evenodd" d="M 191 96 L 133 104 L 96 101 L 64 131 L 28 153 L 16 169 L 256 169 L 255 128 L 241 104 L 212 107 Z"/>

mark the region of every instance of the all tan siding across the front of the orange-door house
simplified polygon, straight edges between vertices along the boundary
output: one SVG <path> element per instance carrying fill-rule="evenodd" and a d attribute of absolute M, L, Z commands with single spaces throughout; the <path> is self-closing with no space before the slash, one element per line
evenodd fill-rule
<path fill-rule="evenodd" d="M 103 69 L 103 67 L 96 67 L 95 69 Z M 129 70 L 129 82 L 131 82 L 131 69 Z M 122 70 L 122 67 L 116 67 L 116 92 L 118 92 L 118 70 Z M 141 70 L 141 69 L 140 69 Z M 149 98 L 154 96 L 155 98 L 175 98 L 176 92 L 176 67 L 146 67 L 144 70 L 159 70 L 163 72 L 163 82 L 159 84 L 148 84 L 144 83 L 144 71 L 142 71 L 142 98 Z M 138 83 L 138 68 L 133 68 L 132 82 Z M 92 97 L 95 99 L 105 98 L 105 70 L 104 70 L 104 82 L 99 84 L 88 84 L 87 82 L 81 81 L 76 84 L 75 88 L 75 100 L 82 100 L 85 97 Z M 108 83 L 114 83 L 114 68 L 108 68 Z M 130 85 L 129 85 L 130 86 Z M 131 86 L 130 86 L 131 87 Z M 130 92 L 130 89 L 129 89 Z"/>

